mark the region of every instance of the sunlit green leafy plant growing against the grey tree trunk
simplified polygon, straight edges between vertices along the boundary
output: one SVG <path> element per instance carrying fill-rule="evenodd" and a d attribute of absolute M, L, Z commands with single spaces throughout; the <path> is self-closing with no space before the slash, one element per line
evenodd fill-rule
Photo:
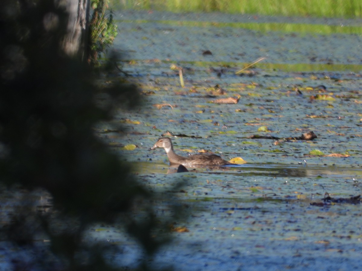
<path fill-rule="evenodd" d="M 93 15 L 89 23 L 89 62 L 98 66 L 98 56 L 113 44 L 117 36 L 117 25 L 113 23 L 112 11 L 108 10 L 109 0 L 92 0 Z"/>

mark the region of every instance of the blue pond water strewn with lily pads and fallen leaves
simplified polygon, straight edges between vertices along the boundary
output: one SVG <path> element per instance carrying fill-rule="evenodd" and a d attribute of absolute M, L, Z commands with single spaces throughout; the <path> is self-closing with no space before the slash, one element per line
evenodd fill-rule
<path fill-rule="evenodd" d="M 322 203 L 325 193 L 361 194 L 361 20 L 144 11 L 117 12 L 115 19 L 121 32 L 115 48 L 127 59 L 119 64 L 139 85 L 143 102 L 115 115 L 126 136 L 107 130 L 109 124 L 99 125 L 99 135 L 146 187 L 188 206 L 188 219 L 177 224 L 189 232 L 174 233 L 151 266 L 359 268 L 361 205 Z M 266 59 L 235 74 L 260 57 Z M 172 64 L 183 68 L 185 87 Z M 213 103 L 228 97 L 239 102 Z M 259 132 L 261 126 L 268 132 Z M 250 138 L 308 131 L 317 138 L 281 145 Z M 167 132 L 175 135 L 177 154 L 207 150 L 248 163 L 167 174 L 164 150 L 148 150 Z M 130 144 L 136 149 L 122 149 Z M 313 150 L 341 157 L 310 155 Z M 176 193 L 172 187 L 180 180 Z M 160 207 L 159 215 L 165 210 Z M 89 240 L 102 234 L 90 233 Z M 142 258 L 121 230 L 105 238 L 123 248 L 110 256 L 114 264 L 132 267 Z"/>

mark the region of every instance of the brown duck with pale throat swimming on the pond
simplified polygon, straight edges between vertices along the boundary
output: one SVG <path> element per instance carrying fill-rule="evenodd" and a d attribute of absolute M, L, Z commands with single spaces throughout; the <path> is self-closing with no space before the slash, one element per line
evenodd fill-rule
<path fill-rule="evenodd" d="M 190 166 L 200 166 L 200 165 L 230 165 L 231 163 L 222 159 L 219 155 L 216 154 L 193 154 L 189 157 L 183 157 L 175 154 L 173 151 L 173 145 L 171 138 L 161 137 L 157 140 L 155 145 L 153 145 L 150 150 L 157 148 L 163 148 L 166 151 L 168 160 L 170 164 L 180 164 L 184 167 Z"/>

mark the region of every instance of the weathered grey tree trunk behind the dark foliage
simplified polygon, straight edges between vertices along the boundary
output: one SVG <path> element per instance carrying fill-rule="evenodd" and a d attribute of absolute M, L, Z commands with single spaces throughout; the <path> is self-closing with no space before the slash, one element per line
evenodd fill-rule
<path fill-rule="evenodd" d="M 63 40 L 64 52 L 82 61 L 88 58 L 88 21 L 90 0 L 59 0 L 69 14 L 67 34 Z"/>

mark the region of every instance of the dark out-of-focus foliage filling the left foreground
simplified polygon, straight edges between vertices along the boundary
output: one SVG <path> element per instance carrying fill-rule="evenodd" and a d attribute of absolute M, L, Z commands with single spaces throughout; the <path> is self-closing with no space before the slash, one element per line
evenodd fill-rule
<path fill-rule="evenodd" d="M 168 221 L 155 222 L 151 195 L 93 130 L 115 107 L 139 104 L 138 92 L 121 80 L 100 88 L 87 64 L 66 56 L 60 47 L 66 22 L 54 1 L 6 0 L 0 10 L 1 201 L 14 190 L 25 193 L 7 219 L 1 214 L 0 235 L 33 251 L 29 260 L 12 259 L 9 250 L 13 270 L 113 270 L 102 257 L 110 247 L 82 242 L 94 223 L 123 225 L 147 255 L 167 240 L 152 234 Z M 109 96 L 102 107 L 95 103 L 99 93 Z M 36 189 L 50 195 L 53 211 L 32 208 L 26 193 Z M 50 246 L 39 246 L 39 236 Z"/>

